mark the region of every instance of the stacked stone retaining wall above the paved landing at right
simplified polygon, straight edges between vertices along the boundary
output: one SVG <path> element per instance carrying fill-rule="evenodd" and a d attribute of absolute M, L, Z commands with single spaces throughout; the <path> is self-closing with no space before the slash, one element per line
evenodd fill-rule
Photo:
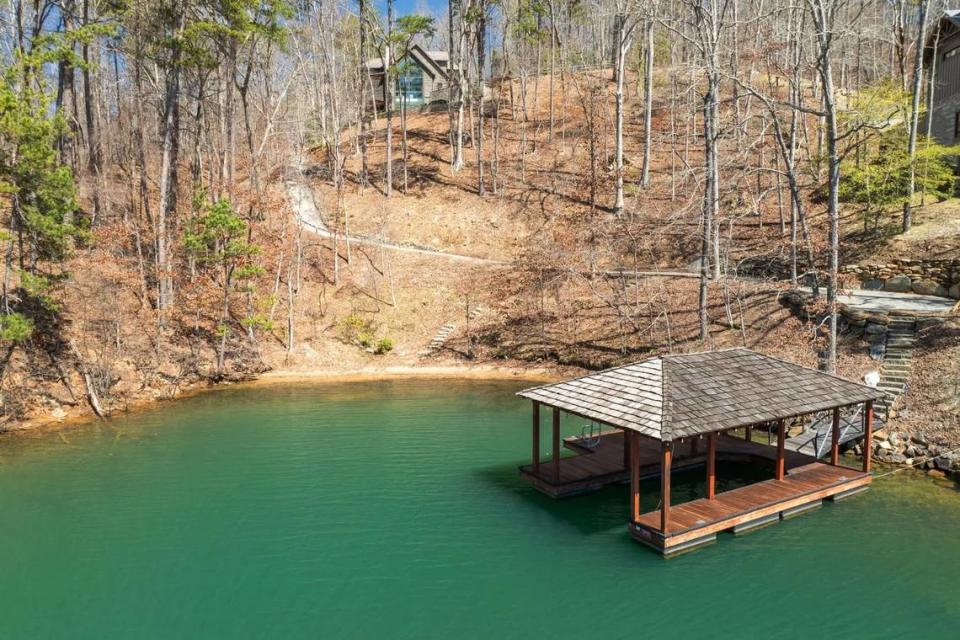
<path fill-rule="evenodd" d="M 859 278 L 864 289 L 960 299 L 960 258 L 901 258 L 886 263 L 850 264 L 841 267 L 840 272 Z"/>

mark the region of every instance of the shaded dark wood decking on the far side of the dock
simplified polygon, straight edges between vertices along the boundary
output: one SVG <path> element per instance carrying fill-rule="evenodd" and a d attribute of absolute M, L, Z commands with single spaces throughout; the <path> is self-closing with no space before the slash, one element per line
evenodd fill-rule
<path fill-rule="evenodd" d="M 539 491 L 554 497 L 567 496 L 596 491 L 610 484 L 619 484 L 630 480 L 630 471 L 624 465 L 623 431 L 614 429 L 600 434 L 599 444 L 590 448 L 589 438 L 574 436 L 565 438 L 564 446 L 576 452 L 576 455 L 560 458 L 560 477 L 555 478 L 551 461 L 540 463 L 539 471 L 532 464 L 520 467 L 520 474 Z M 687 443 L 676 448 L 672 468 L 683 470 L 706 464 L 706 442 L 699 442 L 696 452 L 692 444 Z M 787 468 L 793 468 L 813 462 L 815 459 L 800 453 L 786 452 Z M 746 442 L 737 437 L 717 438 L 717 458 L 720 460 L 739 460 L 750 462 L 756 458 L 773 461 L 776 447 L 759 442 Z M 648 438 L 640 439 L 640 477 L 651 478 L 660 475 L 660 446 Z"/>

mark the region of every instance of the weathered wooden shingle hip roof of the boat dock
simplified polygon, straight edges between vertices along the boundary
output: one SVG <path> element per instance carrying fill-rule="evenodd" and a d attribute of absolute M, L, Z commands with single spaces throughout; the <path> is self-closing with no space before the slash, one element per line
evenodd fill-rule
<path fill-rule="evenodd" d="M 878 400 L 883 392 L 749 349 L 665 355 L 519 392 L 669 442 Z"/>

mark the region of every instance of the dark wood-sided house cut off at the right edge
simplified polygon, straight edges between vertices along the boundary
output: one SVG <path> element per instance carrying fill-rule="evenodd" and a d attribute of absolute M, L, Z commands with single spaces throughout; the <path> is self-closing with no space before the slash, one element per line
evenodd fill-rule
<path fill-rule="evenodd" d="M 960 142 L 960 10 L 943 14 L 927 40 L 925 62 L 933 75 L 930 134 L 941 144 Z M 921 127 L 926 132 L 927 123 Z"/>

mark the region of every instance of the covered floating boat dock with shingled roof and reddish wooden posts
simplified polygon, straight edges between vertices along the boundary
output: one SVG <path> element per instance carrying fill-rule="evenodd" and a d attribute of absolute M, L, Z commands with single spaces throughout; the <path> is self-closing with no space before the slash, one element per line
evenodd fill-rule
<path fill-rule="evenodd" d="M 665 556 L 744 532 L 867 488 L 870 456 L 860 469 L 840 465 L 841 425 L 861 420 L 870 450 L 873 402 L 883 392 L 749 349 L 665 355 L 519 393 L 533 402 L 533 451 L 521 475 L 538 490 L 564 497 L 630 482 L 631 535 Z M 542 461 L 542 408 L 552 409 L 552 456 Z M 561 440 L 561 411 L 596 431 Z M 832 418 L 829 461 L 786 447 L 787 424 Z M 846 414 L 846 417 L 845 417 Z M 776 446 L 755 442 L 772 425 Z M 575 455 L 561 456 L 562 447 Z M 716 493 L 717 461 L 772 466 L 773 477 Z M 705 495 L 671 505 L 671 473 L 703 467 Z M 641 513 L 640 480 L 660 478 L 660 504 Z"/>

